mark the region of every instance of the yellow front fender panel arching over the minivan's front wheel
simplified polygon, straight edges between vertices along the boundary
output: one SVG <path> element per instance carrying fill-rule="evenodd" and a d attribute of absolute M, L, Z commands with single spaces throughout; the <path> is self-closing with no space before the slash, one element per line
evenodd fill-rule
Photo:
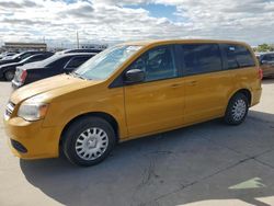
<path fill-rule="evenodd" d="M 106 113 L 113 116 L 119 128 L 121 138 L 127 137 L 123 89 L 114 89 L 111 93 L 94 99 L 89 96 L 76 98 L 70 101 L 50 103 L 44 119 L 44 127 L 65 126 L 73 118 L 88 113 Z"/>

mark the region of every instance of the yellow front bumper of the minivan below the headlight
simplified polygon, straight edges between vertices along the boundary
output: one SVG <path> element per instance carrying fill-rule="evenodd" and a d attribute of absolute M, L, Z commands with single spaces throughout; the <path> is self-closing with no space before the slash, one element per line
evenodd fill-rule
<path fill-rule="evenodd" d="M 21 117 L 12 117 L 4 119 L 4 129 L 11 138 L 11 151 L 19 158 L 42 159 L 59 154 L 61 129 L 58 127 L 43 127 L 43 121 L 26 122 Z M 26 151 L 14 147 L 14 141 L 21 144 Z"/>

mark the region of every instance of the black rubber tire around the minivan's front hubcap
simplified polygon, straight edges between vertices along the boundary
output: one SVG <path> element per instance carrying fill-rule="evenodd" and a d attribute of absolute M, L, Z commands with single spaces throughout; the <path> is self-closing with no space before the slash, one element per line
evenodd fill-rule
<path fill-rule="evenodd" d="M 90 131 L 87 131 L 89 129 L 90 129 Z M 96 129 L 99 131 L 96 131 Z M 81 147 L 80 151 L 82 151 L 84 149 L 87 150 L 87 148 L 88 148 L 90 153 L 92 153 L 91 158 L 93 158 L 93 154 L 98 156 L 98 153 L 96 152 L 94 153 L 93 150 L 100 147 L 100 145 L 98 146 L 100 140 L 96 140 L 95 145 L 93 144 L 94 145 L 94 146 L 92 146 L 93 148 L 89 148 L 89 146 L 88 146 L 88 144 L 90 144 L 88 141 L 93 141 L 94 139 L 96 139 L 92 136 L 87 137 L 87 133 L 89 135 L 91 135 L 91 130 L 92 130 L 92 133 L 94 133 L 92 135 L 98 135 L 96 133 L 104 131 L 109 144 L 107 144 L 107 146 L 102 146 L 102 147 L 105 147 L 104 150 L 102 148 L 100 148 L 100 151 L 102 151 L 102 150 L 103 151 L 98 158 L 87 160 L 87 159 L 84 159 L 87 157 L 80 157 L 80 156 L 85 156 L 85 153 L 80 154 L 79 150 L 77 150 L 76 147 L 77 147 L 77 144 L 79 144 L 78 141 L 82 141 L 80 145 L 80 147 Z M 84 133 L 85 133 L 85 135 L 83 135 Z M 93 138 L 93 140 L 87 140 L 87 138 L 88 139 Z M 85 144 L 83 144 L 83 142 L 85 142 Z M 72 123 L 69 126 L 69 128 L 66 130 L 66 133 L 62 137 L 62 150 L 64 150 L 65 156 L 67 157 L 67 159 L 70 162 L 78 164 L 78 165 L 90 167 L 90 165 L 94 165 L 94 164 L 98 164 L 101 161 L 103 161 L 109 156 L 111 150 L 114 148 L 115 142 L 116 142 L 115 133 L 114 133 L 114 129 L 109 122 L 106 122 L 105 119 L 100 118 L 100 117 L 88 116 L 88 117 L 82 117 L 82 118 L 78 119 L 77 122 Z M 98 151 L 98 152 L 100 152 L 100 151 Z"/>

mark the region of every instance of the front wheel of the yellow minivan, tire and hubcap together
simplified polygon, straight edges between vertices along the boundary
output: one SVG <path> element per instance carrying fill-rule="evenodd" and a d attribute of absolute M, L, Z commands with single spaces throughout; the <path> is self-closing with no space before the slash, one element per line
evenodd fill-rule
<path fill-rule="evenodd" d="M 83 117 L 65 133 L 64 153 L 78 165 L 94 165 L 103 161 L 115 145 L 113 127 L 100 117 Z"/>

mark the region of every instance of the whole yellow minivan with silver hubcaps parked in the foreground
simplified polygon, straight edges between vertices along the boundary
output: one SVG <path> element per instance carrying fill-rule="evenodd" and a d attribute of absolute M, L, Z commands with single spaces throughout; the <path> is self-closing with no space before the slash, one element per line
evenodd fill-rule
<path fill-rule="evenodd" d="M 16 90 L 5 130 L 22 159 L 92 165 L 116 142 L 224 117 L 239 125 L 261 98 L 250 46 L 180 39 L 113 46 L 69 75 Z"/>

